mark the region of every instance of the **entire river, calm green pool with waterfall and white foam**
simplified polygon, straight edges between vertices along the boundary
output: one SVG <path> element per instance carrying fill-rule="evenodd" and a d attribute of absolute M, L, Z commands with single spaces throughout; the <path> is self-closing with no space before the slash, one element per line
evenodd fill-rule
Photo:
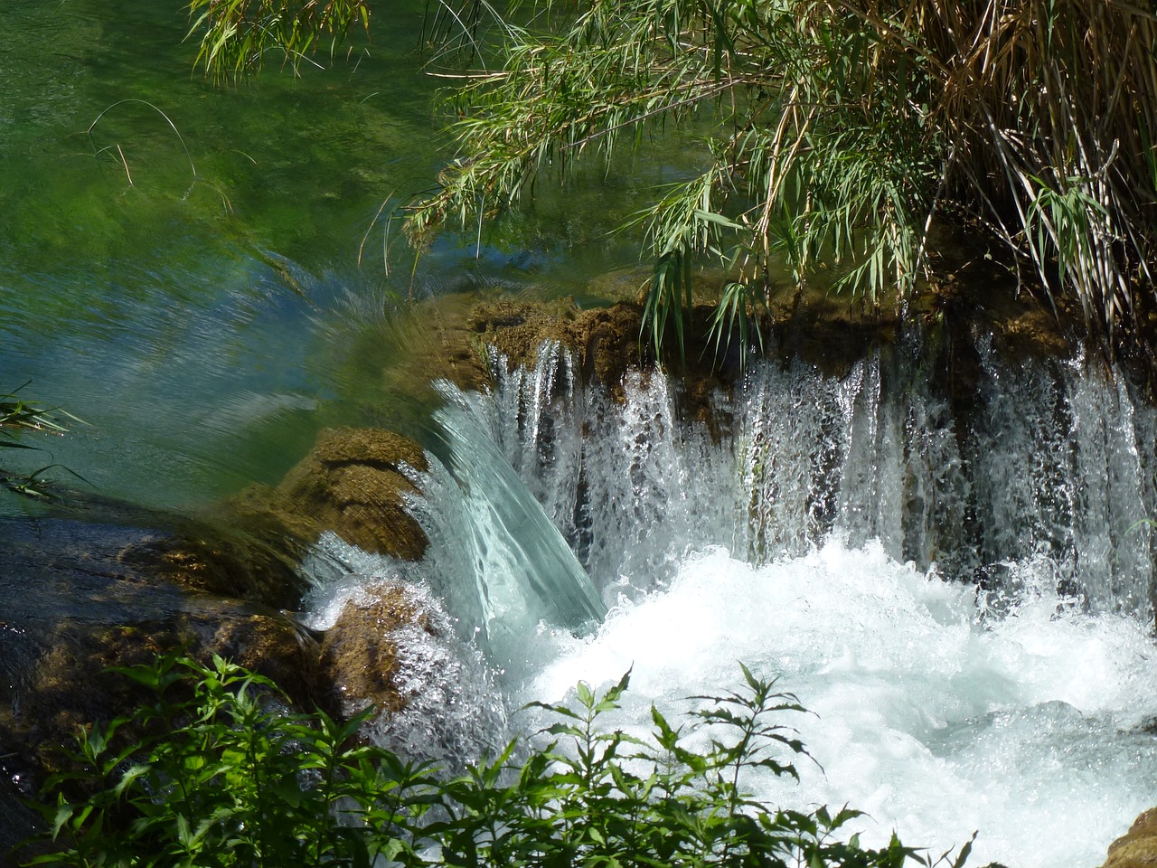
<path fill-rule="evenodd" d="M 417 270 L 396 248 L 385 272 L 382 204 L 445 159 L 421 6 L 327 68 L 216 89 L 191 72 L 180 3 L 5 5 L 0 385 L 83 419 L 51 462 L 193 509 L 278 481 L 326 426 L 420 417 L 427 558 L 327 540 L 348 575 L 316 575 L 308 601 L 324 628 L 401 578 L 457 619 L 460 642 L 405 665 L 474 672 L 457 685 L 473 707 L 460 726 L 415 707 L 392 737 L 420 752 L 444 720 L 429 737 L 474 750 L 480 715 L 532 730 L 510 709 L 628 668 L 620 723 L 643 728 L 650 703 L 735 689 L 743 661 L 815 712 L 798 727 L 817 765 L 753 780 L 762 797 L 850 802 L 872 841 L 979 831 L 974 863 L 1099 863 L 1157 792 L 1151 403 L 1122 372 L 1010 362 L 975 334 L 967 419 L 919 336 L 839 375 L 754 365 L 714 399 L 722 435 L 680 415 L 677 381 L 632 376 L 617 402 L 557 347 L 496 365 L 492 392 L 392 406 L 381 372 L 411 300 L 500 285 L 597 303 L 588 278 L 635 256 L 604 234 L 639 183 L 625 168 L 566 209 L 448 234 Z"/>

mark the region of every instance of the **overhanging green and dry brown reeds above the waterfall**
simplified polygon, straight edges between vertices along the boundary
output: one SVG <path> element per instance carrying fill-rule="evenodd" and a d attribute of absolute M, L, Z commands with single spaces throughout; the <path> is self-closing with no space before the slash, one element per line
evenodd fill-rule
<path fill-rule="evenodd" d="M 304 9 L 302 28 L 330 35 L 368 10 L 362 0 L 193 3 L 202 8 L 200 60 L 214 74 L 264 56 L 278 31 L 260 22 L 293 22 L 282 47 L 296 58 L 314 44 L 297 35 Z M 581 161 L 646 160 L 649 144 L 680 130 L 698 168 L 634 219 L 655 263 L 656 343 L 675 333 L 681 344 L 693 264 L 731 278 L 722 334 L 784 275 L 902 307 L 921 281 L 948 277 L 942 229 L 964 229 L 978 256 L 1079 311 L 1110 351 L 1157 315 L 1154 0 L 584 0 L 501 12 L 467 0 L 436 17 L 458 27 L 430 31 L 469 45 L 454 57 L 472 60 L 448 79 L 455 154 L 436 189 L 404 208 L 419 245 L 447 223 L 473 231 L 536 185 L 566 183 Z"/>

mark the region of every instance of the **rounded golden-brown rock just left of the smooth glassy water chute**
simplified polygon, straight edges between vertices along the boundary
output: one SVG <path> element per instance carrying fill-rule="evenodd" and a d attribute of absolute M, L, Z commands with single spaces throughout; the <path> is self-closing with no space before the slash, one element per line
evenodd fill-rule
<path fill-rule="evenodd" d="M 426 455 L 408 437 L 377 428 L 329 428 L 277 488 L 251 486 L 229 507 L 250 532 L 280 537 L 297 552 L 331 530 L 375 554 L 418 560 L 426 536 L 405 508 L 418 487 L 408 469 Z"/>

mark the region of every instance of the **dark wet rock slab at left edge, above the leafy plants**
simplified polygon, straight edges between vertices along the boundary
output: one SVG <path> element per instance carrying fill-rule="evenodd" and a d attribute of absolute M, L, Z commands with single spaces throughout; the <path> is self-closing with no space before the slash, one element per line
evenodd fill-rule
<path fill-rule="evenodd" d="M 135 515 L 142 523 L 145 514 Z M 185 543 L 193 550 L 205 540 L 61 517 L 2 520 L 0 534 L 7 601 L 0 613 L 0 777 L 10 785 L 0 788 L 0 841 L 27 833 L 27 817 L 12 799 L 35 795 L 43 774 L 60 763 L 60 745 L 145 698 L 110 667 L 148 663 L 159 653 L 202 662 L 220 654 L 275 681 L 302 708 L 325 700 L 308 631 L 274 609 L 191 591 L 145 554 Z"/>

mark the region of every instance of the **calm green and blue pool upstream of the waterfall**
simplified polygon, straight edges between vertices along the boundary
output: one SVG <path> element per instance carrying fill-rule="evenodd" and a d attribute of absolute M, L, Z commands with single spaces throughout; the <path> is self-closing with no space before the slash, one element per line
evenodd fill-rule
<path fill-rule="evenodd" d="M 9 468 L 61 462 L 150 506 L 275 481 L 319 427 L 389 424 L 375 397 L 403 300 L 465 275 L 581 293 L 638 260 L 605 236 L 634 201 L 612 175 L 480 250 L 447 235 L 413 282 L 405 247 L 384 273 L 382 203 L 448 157 L 423 6 L 379 7 L 370 44 L 327 68 L 222 89 L 193 72 L 176 0 L 0 5 L 0 391 L 30 380 L 87 422 Z"/>

